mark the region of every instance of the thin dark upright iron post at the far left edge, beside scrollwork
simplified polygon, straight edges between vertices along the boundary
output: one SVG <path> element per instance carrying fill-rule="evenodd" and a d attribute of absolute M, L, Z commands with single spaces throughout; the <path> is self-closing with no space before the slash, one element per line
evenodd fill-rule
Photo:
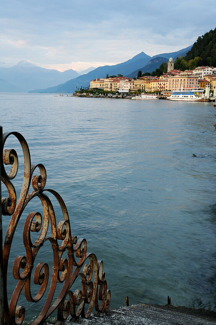
<path fill-rule="evenodd" d="M 4 324 L 4 294 L 2 274 L 2 188 L 1 188 L 1 157 L 2 157 L 2 126 L 0 125 L 0 325 Z"/>

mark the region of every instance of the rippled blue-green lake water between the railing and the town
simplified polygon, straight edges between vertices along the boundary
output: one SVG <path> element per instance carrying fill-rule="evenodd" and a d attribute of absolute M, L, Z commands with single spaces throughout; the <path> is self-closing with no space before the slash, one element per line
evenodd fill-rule
<path fill-rule="evenodd" d="M 130 305 L 164 305 L 169 295 L 173 305 L 216 311 L 214 113 L 203 102 L 0 94 L 3 132 L 26 138 L 32 163 L 46 167 L 46 188 L 67 205 L 72 234 L 103 260 L 110 308 L 126 296 Z M 11 146 L 20 152 L 18 141 Z M 22 169 L 21 153 L 19 162 Z M 18 188 L 22 178 L 19 171 Z M 30 211 L 41 209 L 38 201 Z M 55 211 L 60 218 L 57 204 Z M 26 216 L 10 253 L 9 296 Z M 44 259 L 52 263 L 48 244 L 37 260 Z M 43 302 L 32 309 L 21 295 L 19 305 L 30 319 Z"/>

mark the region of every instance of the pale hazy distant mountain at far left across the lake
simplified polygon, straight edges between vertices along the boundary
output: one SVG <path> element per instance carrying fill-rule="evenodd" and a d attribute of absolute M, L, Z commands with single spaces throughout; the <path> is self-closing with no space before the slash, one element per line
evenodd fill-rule
<path fill-rule="evenodd" d="M 11 68 L 0 67 L 0 78 L 22 89 L 23 92 L 38 87 L 54 86 L 77 76 L 79 73 L 72 69 L 60 72 L 41 68 L 28 61 L 20 61 Z M 8 91 L 10 92 L 9 88 Z M 11 92 L 13 91 L 11 88 Z"/>

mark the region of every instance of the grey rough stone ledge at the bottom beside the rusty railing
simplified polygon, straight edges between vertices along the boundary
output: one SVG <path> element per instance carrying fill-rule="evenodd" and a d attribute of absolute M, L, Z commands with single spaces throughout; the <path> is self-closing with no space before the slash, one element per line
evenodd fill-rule
<path fill-rule="evenodd" d="M 56 319 L 50 319 L 55 324 Z M 216 313 L 202 308 L 194 309 L 184 306 L 147 305 L 139 304 L 129 307 L 110 309 L 107 314 L 96 317 L 94 314 L 88 319 L 79 318 L 77 321 L 70 317 L 63 325 L 215 325 Z"/>

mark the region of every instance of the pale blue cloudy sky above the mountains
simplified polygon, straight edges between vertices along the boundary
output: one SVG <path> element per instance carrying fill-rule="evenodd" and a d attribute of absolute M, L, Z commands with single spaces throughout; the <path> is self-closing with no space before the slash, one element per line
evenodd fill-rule
<path fill-rule="evenodd" d="M 174 52 L 214 29 L 215 12 L 203 0 L 2 0 L 0 66 L 81 71 Z"/>

